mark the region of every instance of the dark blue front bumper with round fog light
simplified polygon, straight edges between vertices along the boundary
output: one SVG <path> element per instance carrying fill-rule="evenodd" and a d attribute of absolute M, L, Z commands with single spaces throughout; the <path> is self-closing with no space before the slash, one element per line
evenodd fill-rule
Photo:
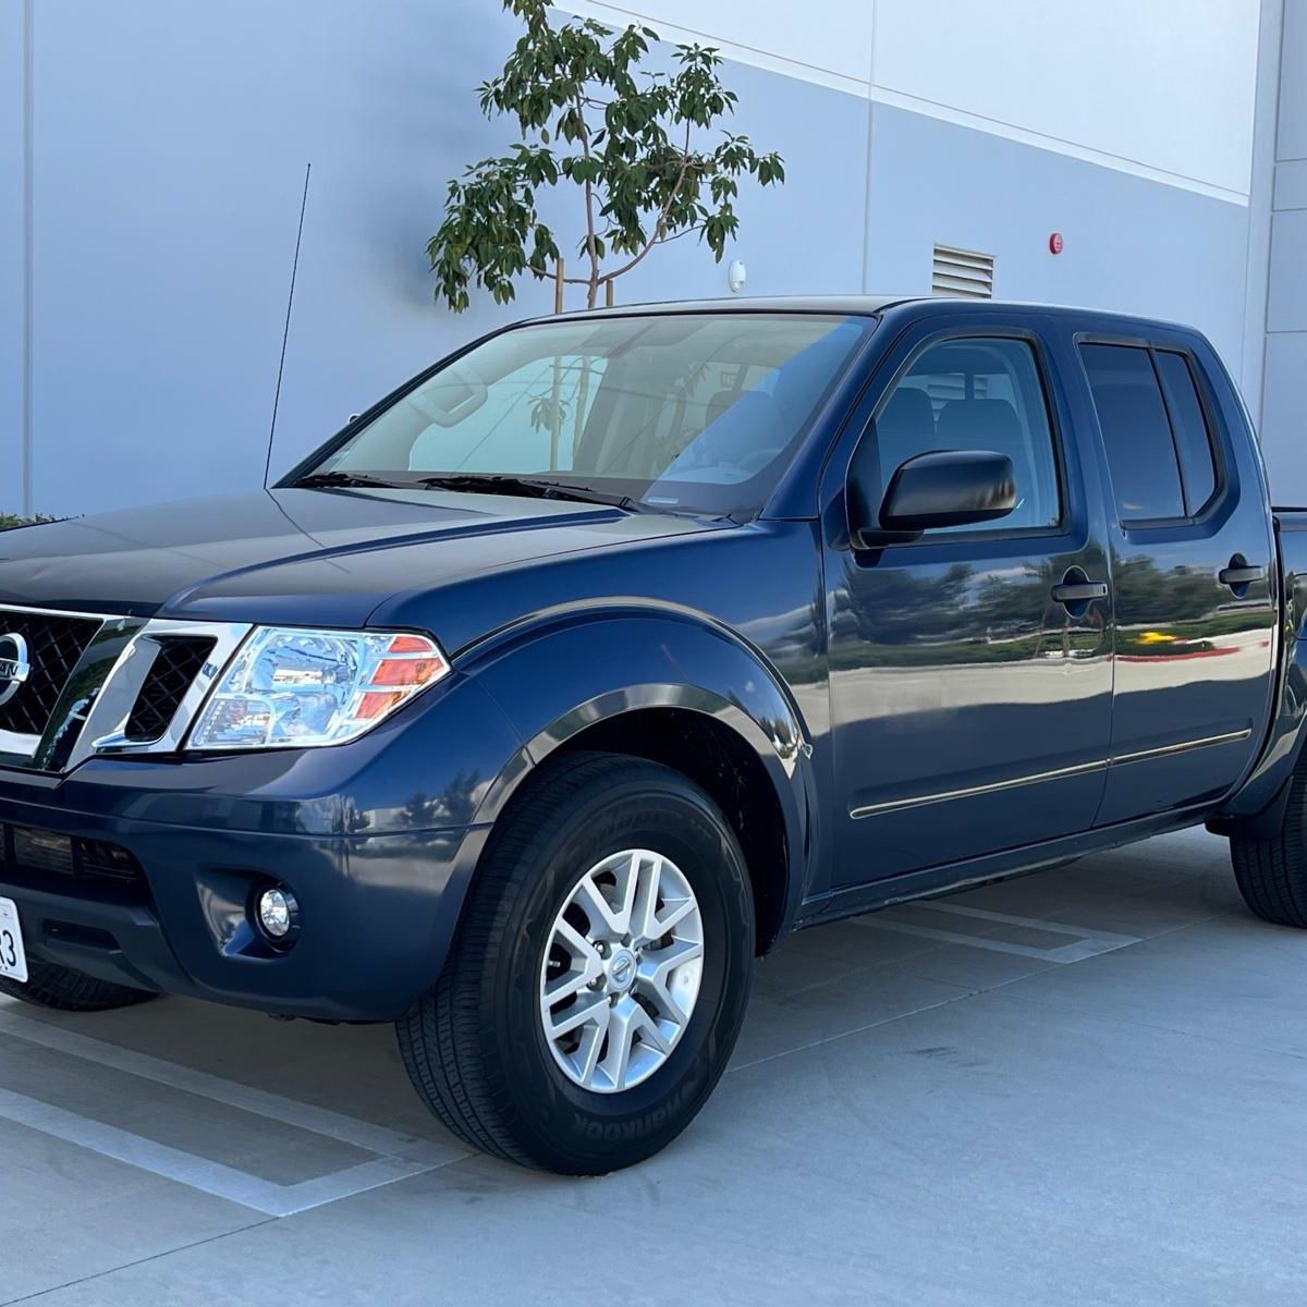
<path fill-rule="evenodd" d="M 285 763 L 227 758 L 207 774 L 186 763 L 140 767 L 135 787 L 112 763 L 61 783 L 0 772 L 0 897 L 18 906 L 29 957 L 285 1016 L 401 1016 L 439 975 L 486 827 L 323 831 L 322 800 L 306 800 L 298 817 L 285 793 L 260 800 L 260 769 Z M 180 809 L 192 819 L 153 819 L 173 806 L 161 804 L 166 778 L 175 784 L 187 766 L 212 787 L 187 786 Z M 230 799 L 216 797 L 233 769 L 250 789 L 246 829 L 231 829 Z M 133 816 L 142 812 L 150 818 Z M 73 880 L 14 856 L 16 847 L 59 850 L 65 836 L 125 850 L 139 874 Z M 252 890 L 267 881 L 299 902 L 299 935 L 285 951 L 250 921 Z"/>

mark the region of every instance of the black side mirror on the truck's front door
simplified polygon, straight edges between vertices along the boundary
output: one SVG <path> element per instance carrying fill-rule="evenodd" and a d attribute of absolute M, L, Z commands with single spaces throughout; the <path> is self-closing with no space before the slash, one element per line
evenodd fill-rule
<path fill-rule="evenodd" d="M 908 459 L 890 478 L 876 520 L 850 486 L 850 533 L 863 549 L 915 540 L 931 527 L 992 521 L 1017 507 L 1012 459 L 987 450 L 936 450 Z"/>

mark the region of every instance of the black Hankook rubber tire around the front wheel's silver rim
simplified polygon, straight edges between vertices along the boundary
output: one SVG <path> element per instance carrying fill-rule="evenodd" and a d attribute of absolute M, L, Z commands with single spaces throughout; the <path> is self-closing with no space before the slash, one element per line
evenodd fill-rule
<path fill-rule="evenodd" d="M 623 1076 L 634 1072 L 637 1059 L 663 1057 L 647 1078 L 634 1082 L 633 1076 L 630 1087 L 609 1082 L 600 1091 L 565 1069 L 566 1055 L 545 1031 L 541 985 L 555 974 L 549 968 L 559 966 L 559 914 L 574 911 L 572 895 L 605 859 L 625 867 L 633 850 L 659 855 L 661 884 L 677 873 L 684 877 L 677 884 L 693 891 L 656 902 L 664 904 L 659 916 L 667 916 L 665 904 L 674 910 L 697 901 L 698 997 L 669 1052 L 651 1050 L 639 1035 L 630 1044 L 629 1068 L 618 1056 Z M 634 915 L 629 911 L 627 919 Z M 646 957 L 668 948 L 668 940 L 650 944 Z M 654 762 L 570 755 L 506 813 L 505 829 L 491 836 L 444 971 L 397 1022 L 404 1064 L 418 1094 L 472 1148 L 565 1175 L 631 1166 L 690 1124 L 725 1070 L 748 1004 L 753 944 L 744 855 L 712 800 Z M 609 948 L 609 966 L 616 967 L 621 941 L 599 948 Z M 574 975 L 567 971 L 565 979 Z M 591 988 L 610 983 L 596 978 Z M 591 997 L 582 991 L 563 1002 Z M 631 1010 L 627 999 L 644 1002 L 635 984 L 608 1001 Z M 637 1013 L 631 1019 L 644 1018 Z M 599 1047 L 612 1052 L 609 1038 Z M 580 1061 L 579 1055 L 571 1061 Z M 597 1086 L 599 1069 L 595 1077 Z"/>

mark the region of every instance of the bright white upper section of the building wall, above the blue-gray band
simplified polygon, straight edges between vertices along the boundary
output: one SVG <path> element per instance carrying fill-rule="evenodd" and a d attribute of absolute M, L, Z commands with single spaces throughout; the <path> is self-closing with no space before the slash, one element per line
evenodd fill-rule
<path fill-rule="evenodd" d="M 1259 0 L 576 0 L 613 24 L 1247 199 Z"/>

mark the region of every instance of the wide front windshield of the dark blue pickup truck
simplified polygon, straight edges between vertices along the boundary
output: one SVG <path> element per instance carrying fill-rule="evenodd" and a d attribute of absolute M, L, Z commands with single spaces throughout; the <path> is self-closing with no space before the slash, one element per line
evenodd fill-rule
<path fill-rule="evenodd" d="M 299 481 L 499 494 L 557 486 L 655 510 L 753 515 L 873 327 L 784 312 L 520 327 L 427 376 Z"/>

